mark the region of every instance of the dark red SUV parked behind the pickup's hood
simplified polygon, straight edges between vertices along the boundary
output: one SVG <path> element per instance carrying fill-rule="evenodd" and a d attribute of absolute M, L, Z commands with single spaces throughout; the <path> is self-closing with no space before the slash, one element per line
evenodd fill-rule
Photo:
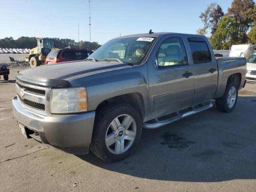
<path fill-rule="evenodd" d="M 54 64 L 54 63 L 60 63 L 60 62 L 68 62 L 68 61 L 79 61 L 84 60 L 90 54 L 92 54 L 93 51 L 91 50 L 85 50 L 85 49 L 58 49 L 58 50 L 52 50 L 46 57 L 45 63 L 48 64 Z"/>

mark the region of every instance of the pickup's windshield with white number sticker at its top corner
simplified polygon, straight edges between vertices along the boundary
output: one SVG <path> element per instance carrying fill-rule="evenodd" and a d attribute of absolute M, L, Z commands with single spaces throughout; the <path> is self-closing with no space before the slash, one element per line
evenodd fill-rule
<path fill-rule="evenodd" d="M 88 58 L 95 60 L 119 59 L 128 64 L 141 64 L 155 37 L 128 37 L 112 39 L 98 48 Z"/>

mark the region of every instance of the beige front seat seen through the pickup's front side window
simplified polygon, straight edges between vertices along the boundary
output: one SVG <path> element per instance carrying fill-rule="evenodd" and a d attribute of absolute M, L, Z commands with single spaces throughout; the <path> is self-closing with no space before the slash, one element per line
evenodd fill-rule
<path fill-rule="evenodd" d="M 180 64 L 182 54 L 178 45 L 169 45 L 165 52 L 166 57 L 162 59 L 159 66 L 170 66 Z"/>

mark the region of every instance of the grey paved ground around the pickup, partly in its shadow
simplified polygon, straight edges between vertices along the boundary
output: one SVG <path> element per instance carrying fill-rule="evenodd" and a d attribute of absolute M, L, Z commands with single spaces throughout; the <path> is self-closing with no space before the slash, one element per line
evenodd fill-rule
<path fill-rule="evenodd" d="M 0 192 L 256 191 L 256 84 L 239 91 L 236 108 L 213 108 L 142 132 L 126 160 L 106 163 L 26 139 L 12 114 L 14 74 L 0 81 Z"/>

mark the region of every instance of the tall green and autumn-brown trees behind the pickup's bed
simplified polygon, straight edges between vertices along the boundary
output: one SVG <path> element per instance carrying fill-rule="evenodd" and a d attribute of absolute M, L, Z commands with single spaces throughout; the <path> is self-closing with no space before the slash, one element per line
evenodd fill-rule
<path fill-rule="evenodd" d="M 214 50 L 229 49 L 234 44 L 256 44 L 256 5 L 253 0 L 233 0 L 227 13 L 212 3 L 199 16 L 204 26 L 196 34 L 206 35 Z"/>

